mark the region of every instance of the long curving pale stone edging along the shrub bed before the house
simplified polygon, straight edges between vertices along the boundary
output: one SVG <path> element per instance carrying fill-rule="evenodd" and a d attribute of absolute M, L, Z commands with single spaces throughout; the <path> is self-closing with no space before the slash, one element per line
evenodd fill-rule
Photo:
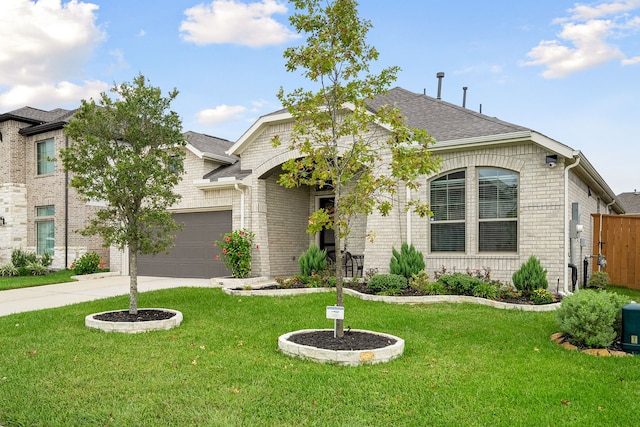
<path fill-rule="evenodd" d="M 286 295 L 301 295 L 311 294 L 316 292 L 334 292 L 335 288 L 294 288 L 294 289 L 263 289 L 261 287 L 272 286 L 275 282 L 265 282 L 258 286 L 252 286 L 252 289 L 231 289 L 223 287 L 222 291 L 228 295 L 234 296 L 286 296 Z M 246 285 L 245 285 L 246 286 Z M 436 303 L 471 303 L 486 305 L 493 308 L 499 308 L 502 310 L 522 310 L 522 311 L 554 311 L 560 307 L 560 303 L 544 305 L 524 305 L 524 304 L 512 304 L 502 301 L 493 301 L 485 298 L 470 297 L 465 295 L 425 295 L 425 296 L 388 296 L 388 295 L 370 295 L 363 294 L 353 289 L 343 288 L 343 292 L 347 295 L 351 295 L 356 298 L 360 298 L 365 301 L 379 301 L 389 304 L 436 304 Z"/>

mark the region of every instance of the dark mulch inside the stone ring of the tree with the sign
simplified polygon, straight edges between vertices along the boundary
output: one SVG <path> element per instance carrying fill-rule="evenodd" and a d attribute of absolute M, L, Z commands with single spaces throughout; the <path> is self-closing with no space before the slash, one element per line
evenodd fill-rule
<path fill-rule="evenodd" d="M 342 338 L 334 338 L 332 330 L 300 332 L 291 335 L 289 341 L 325 350 L 374 350 L 396 342 L 393 338 L 361 331 L 344 331 Z"/>

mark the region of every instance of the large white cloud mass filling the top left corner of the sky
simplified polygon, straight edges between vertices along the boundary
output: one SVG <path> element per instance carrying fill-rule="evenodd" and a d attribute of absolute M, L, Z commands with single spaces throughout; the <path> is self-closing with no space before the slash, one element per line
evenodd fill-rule
<path fill-rule="evenodd" d="M 40 106 L 70 93 L 93 93 L 99 82 L 82 87 L 69 80 L 81 75 L 105 38 L 95 22 L 97 9 L 78 0 L 2 0 L 0 87 L 8 89 L 0 92 L 0 105 Z"/>

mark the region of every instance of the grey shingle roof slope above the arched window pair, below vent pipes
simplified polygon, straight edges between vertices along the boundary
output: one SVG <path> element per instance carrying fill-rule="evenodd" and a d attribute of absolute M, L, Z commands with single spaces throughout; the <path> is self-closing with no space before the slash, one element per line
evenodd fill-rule
<path fill-rule="evenodd" d="M 400 87 L 377 96 L 368 104 L 374 111 L 385 104 L 399 108 L 406 117 L 407 125 L 426 130 L 436 141 L 530 130 Z"/>

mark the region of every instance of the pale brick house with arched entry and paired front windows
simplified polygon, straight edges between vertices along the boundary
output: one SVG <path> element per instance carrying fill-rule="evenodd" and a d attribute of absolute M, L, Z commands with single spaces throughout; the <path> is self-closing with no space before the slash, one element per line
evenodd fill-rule
<path fill-rule="evenodd" d="M 364 271 L 389 270 L 393 247 L 412 243 L 425 256 L 427 272 L 490 269 L 510 282 L 531 255 L 548 270 L 549 289 L 572 290 L 573 275 L 590 257 L 591 214 L 622 214 L 624 208 L 587 158 L 577 150 L 523 126 L 448 102 L 394 88 L 370 103 L 400 108 L 412 127 L 432 134 L 442 159 L 437 175 L 425 176 L 418 192 L 401 188 L 390 215 L 358 218 L 346 250 L 364 255 Z M 260 117 L 224 156 L 193 155 L 179 189 L 176 212 L 212 211 L 231 218 L 233 229 L 256 234 L 253 273 L 268 277 L 298 272 L 309 244 L 332 248 L 330 233 L 308 235 L 308 217 L 330 206 L 332 194 L 318 188 L 277 184 L 281 165 L 298 154 L 287 146 L 292 119 L 285 110 Z M 373 136 L 384 129 L 372 130 Z M 279 135 L 282 146 L 271 138 Z M 231 159 L 239 158 L 237 162 Z M 208 160 L 208 162 L 207 162 Z M 219 166 L 206 172 L 206 166 Z M 202 175 L 199 175 L 202 173 Z M 430 202 L 432 218 L 405 211 L 409 198 Z M 221 214 L 220 212 L 225 212 Z M 377 237 L 371 242 L 367 233 Z M 345 248 L 342 248 L 345 249 Z M 579 278 L 576 277 L 576 281 Z M 581 283 L 581 282 L 579 282 Z"/>

